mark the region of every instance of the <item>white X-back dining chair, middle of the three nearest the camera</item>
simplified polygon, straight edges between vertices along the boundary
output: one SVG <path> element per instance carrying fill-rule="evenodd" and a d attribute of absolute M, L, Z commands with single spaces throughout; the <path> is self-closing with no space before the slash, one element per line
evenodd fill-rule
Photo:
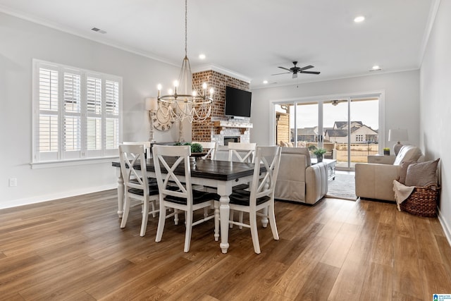
<path fill-rule="evenodd" d="M 155 241 L 161 241 L 166 218 L 177 216 L 178 211 L 185 211 L 184 252 L 189 252 L 192 227 L 215 218 L 212 214 L 193 222 L 194 211 L 214 207 L 214 200 L 218 199 L 218 196 L 210 192 L 192 190 L 190 146 L 154 145 L 152 153 L 160 192 L 160 216 Z M 181 171 L 182 174 L 179 175 L 176 171 Z M 168 208 L 174 209 L 174 212 L 166 215 Z M 216 225 L 218 221 L 215 221 L 215 227 Z"/>

